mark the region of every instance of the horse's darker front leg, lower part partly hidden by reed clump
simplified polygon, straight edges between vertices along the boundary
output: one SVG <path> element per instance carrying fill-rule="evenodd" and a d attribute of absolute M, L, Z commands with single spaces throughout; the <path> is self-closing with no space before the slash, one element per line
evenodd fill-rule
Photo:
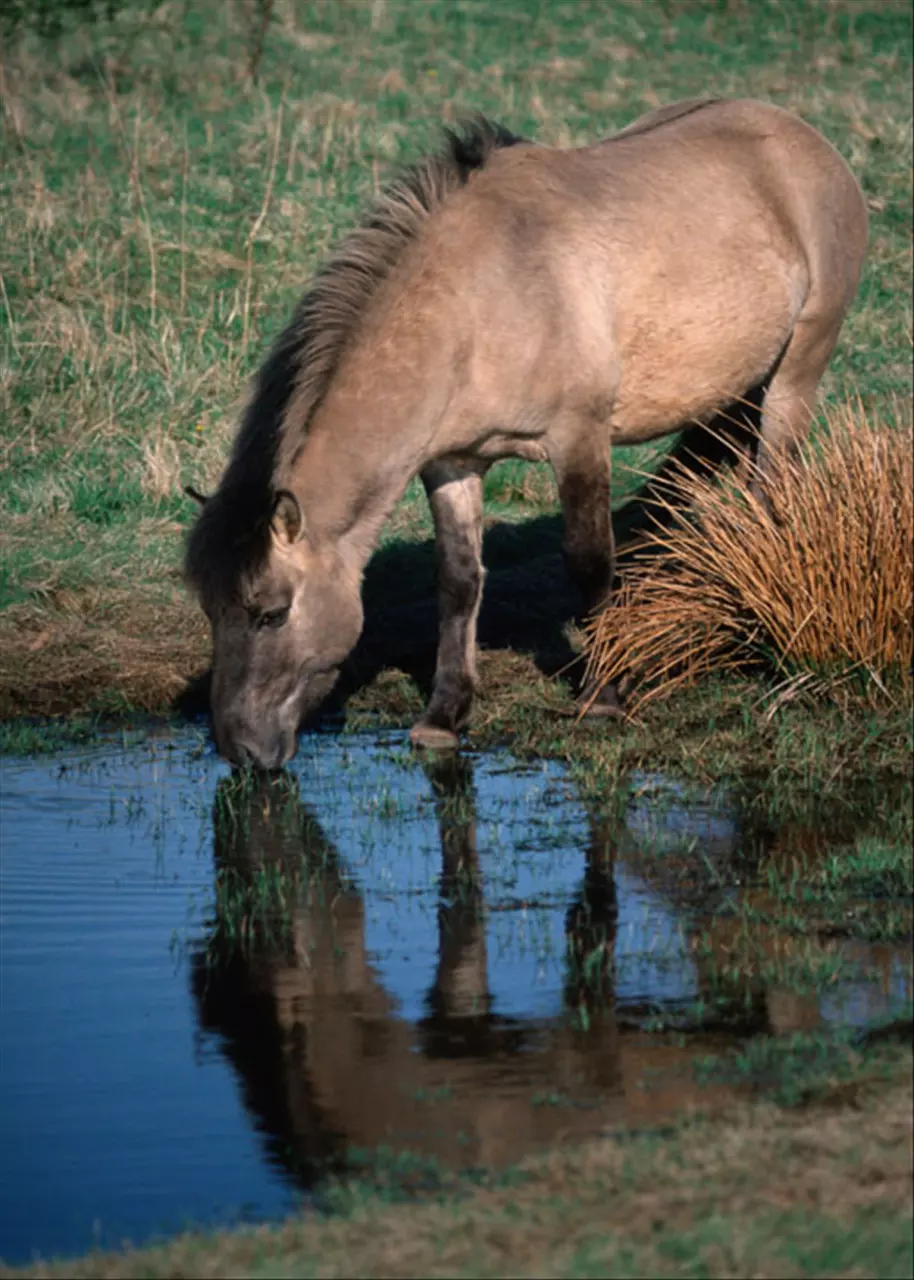
<path fill-rule="evenodd" d="M 581 595 L 581 617 L 609 603 L 616 575 L 616 548 L 609 507 L 609 433 L 603 424 L 586 424 L 565 447 L 549 451 L 565 534 L 562 554 L 571 581 Z M 620 716 L 614 685 L 605 685 L 591 701 L 594 690 L 585 686 L 581 699 L 590 701 L 588 714 Z"/>

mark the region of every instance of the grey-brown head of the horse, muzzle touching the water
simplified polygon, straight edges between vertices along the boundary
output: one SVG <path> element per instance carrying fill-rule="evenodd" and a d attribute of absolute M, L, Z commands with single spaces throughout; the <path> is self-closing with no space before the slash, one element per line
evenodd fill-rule
<path fill-rule="evenodd" d="M 216 540 L 195 530 L 188 567 L 212 627 L 216 748 L 234 764 L 277 769 L 294 755 L 301 719 L 326 698 L 358 640 L 358 575 L 334 548 L 314 545 L 288 490 L 275 498 L 256 557 L 232 572 L 230 549 L 228 566 L 219 554 Z"/>

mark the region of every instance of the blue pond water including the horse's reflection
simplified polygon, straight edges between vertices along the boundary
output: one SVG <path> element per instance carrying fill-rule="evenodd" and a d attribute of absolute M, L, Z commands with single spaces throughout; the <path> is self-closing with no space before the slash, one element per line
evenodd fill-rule
<path fill-rule="evenodd" d="M 397 733 L 312 735 L 256 785 L 189 727 L 4 760 L 0 1257 L 280 1217 L 378 1148 L 499 1165 L 707 1105 L 719 1042 L 644 1025 L 702 996 L 695 896 L 755 855 L 658 785 L 595 820 L 557 764 L 424 767 Z M 910 998 L 894 964 L 748 1004 L 865 1023 Z"/>

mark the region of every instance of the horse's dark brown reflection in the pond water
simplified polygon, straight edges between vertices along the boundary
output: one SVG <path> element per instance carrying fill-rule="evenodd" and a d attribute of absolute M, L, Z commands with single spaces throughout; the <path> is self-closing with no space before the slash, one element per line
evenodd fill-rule
<path fill-rule="evenodd" d="M 623 1119 L 654 1119 L 691 1096 L 705 1101 L 681 1070 L 681 1046 L 620 1037 L 613 849 L 598 820 L 566 916 L 563 1012 L 499 1016 L 471 765 L 453 755 L 429 762 L 426 772 L 442 876 L 438 963 L 417 1023 L 398 1012 L 373 966 L 362 897 L 300 803 L 297 783 L 280 774 L 220 785 L 218 908 L 196 957 L 195 995 L 201 1024 L 220 1033 L 277 1160 L 303 1180 L 316 1164 L 344 1166 L 347 1151 L 383 1146 L 448 1167 L 497 1166 Z M 284 931 L 270 922 L 270 895 L 274 915 L 280 896 L 288 904 Z M 252 931 L 257 913 L 262 927 Z M 671 1079 L 658 1075 L 663 1068 Z M 657 1076 L 649 1091 L 646 1074 Z"/>

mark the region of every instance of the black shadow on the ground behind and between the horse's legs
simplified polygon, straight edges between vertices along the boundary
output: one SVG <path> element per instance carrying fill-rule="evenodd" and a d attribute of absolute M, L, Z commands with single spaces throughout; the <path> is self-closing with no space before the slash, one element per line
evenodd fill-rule
<path fill-rule="evenodd" d="M 690 426 L 680 434 L 654 476 L 613 515 L 621 563 L 652 525 L 672 518 L 675 495 L 671 503 L 664 486 L 671 475 L 708 475 L 753 451 L 760 397 L 762 389 L 757 389 L 745 403 L 731 406 L 708 426 Z M 661 492 L 663 508 L 654 502 Z M 573 690 L 581 672 L 568 623 L 579 618 L 580 599 L 565 571 L 561 515 L 493 524 L 483 539 L 483 561 L 486 581 L 479 616 L 480 648 L 525 655 L 543 675 L 558 676 Z M 433 538 L 392 541 L 375 552 L 362 588 L 361 639 L 319 717 L 342 713 L 385 669 L 405 672 L 421 696 L 430 698 L 438 643 L 435 576 Z M 209 709 L 209 680 L 207 671 L 191 681 L 178 699 L 178 709 L 186 714 Z"/>

